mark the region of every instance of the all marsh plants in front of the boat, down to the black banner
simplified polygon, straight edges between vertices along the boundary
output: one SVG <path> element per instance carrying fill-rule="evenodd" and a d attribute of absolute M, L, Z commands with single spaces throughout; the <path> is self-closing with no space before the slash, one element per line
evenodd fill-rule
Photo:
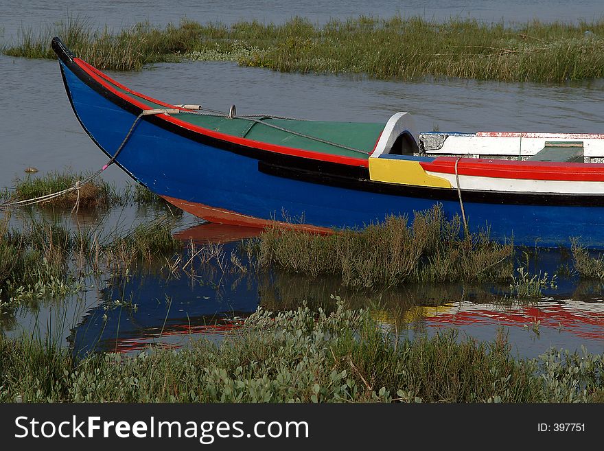
<path fill-rule="evenodd" d="M 56 187 L 53 177 L 67 185 L 81 178 L 27 177 L 16 183 L 16 196 Z M 89 208 L 106 209 L 116 199 L 158 201 L 141 189 L 126 195 L 102 182 L 96 187 L 91 198 L 106 202 L 91 200 Z M 71 205 L 54 207 L 69 211 Z M 528 251 L 517 267 L 512 243 L 491 242 L 487 233 L 464 237 L 460 219 L 446 220 L 439 207 L 332 235 L 275 226 L 241 242 L 230 256 L 220 244 L 176 239 L 173 216 L 106 236 L 31 218 L 20 229 L 7 215 L 0 220 L 1 312 L 67 299 L 86 289 L 89 275 L 111 280 L 151 268 L 161 277 L 199 277 L 204 268 L 267 278 L 279 270 L 305 281 L 329 277 L 356 297 L 411 284 L 511 281 L 498 299 L 538 302 L 555 286 L 555 276 L 529 274 Z M 579 242 L 568 260 L 566 275 L 604 278 L 604 257 Z M 344 303 L 332 294 L 318 308 L 288 297 L 288 305 L 276 303 L 277 312 L 259 308 L 220 345 L 191 338 L 183 349 L 155 346 L 135 356 L 75 356 L 58 338 L 39 332 L 21 338 L 0 333 L 0 402 L 604 402 L 604 355 L 549 349 L 539 358 L 520 358 L 503 329 L 486 342 L 455 330 L 402 338 L 397 323 L 383 321 L 379 303 L 359 309 L 354 297 Z M 539 323 L 532 327 L 537 334 Z"/>

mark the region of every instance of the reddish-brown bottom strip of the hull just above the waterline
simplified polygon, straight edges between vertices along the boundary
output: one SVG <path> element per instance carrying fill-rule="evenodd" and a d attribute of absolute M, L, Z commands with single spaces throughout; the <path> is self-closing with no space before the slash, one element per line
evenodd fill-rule
<path fill-rule="evenodd" d="M 243 215 L 236 211 L 225 210 L 222 208 L 210 207 L 196 202 L 188 202 L 187 200 L 181 200 L 170 196 L 161 196 L 167 202 L 180 208 L 181 210 L 187 211 L 198 218 L 205 219 L 209 222 L 216 222 L 218 224 L 230 224 L 244 227 L 255 227 L 256 229 L 265 229 L 266 227 L 274 226 L 279 224 L 286 229 L 295 229 L 301 231 L 307 231 L 312 233 L 329 234 L 334 233 L 332 229 L 327 227 L 317 227 L 310 224 L 293 224 L 291 222 L 273 221 L 260 218 L 254 218 L 253 216 Z"/>

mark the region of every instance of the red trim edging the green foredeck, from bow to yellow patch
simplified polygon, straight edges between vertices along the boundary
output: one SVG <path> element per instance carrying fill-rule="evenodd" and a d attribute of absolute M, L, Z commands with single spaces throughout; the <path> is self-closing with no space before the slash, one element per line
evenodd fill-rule
<path fill-rule="evenodd" d="M 147 95 L 143 95 L 143 94 L 137 93 L 135 91 L 132 91 L 132 90 L 126 88 L 126 86 L 119 84 L 118 82 L 116 82 L 115 80 L 113 80 L 112 78 L 107 76 L 105 73 L 102 73 L 95 67 L 89 65 L 84 60 L 81 60 L 80 58 L 73 58 L 73 62 L 75 62 L 76 65 L 78 65 L 80 68 L 82 68 L 82 70 L 86 71 L 86 73 L 88 73 L 89 76 L 91 76 L 96 82 L 102 84 L 102 86 L 104 86 L 105 89 L 107 89 L 108 91 L 111 91 L 111 93 L 117 95 L 118 97 L 121 97 L 121 99 L 126 100 L 126 102 L 129 102 L 130 104 L 135 105 L 138 108 L 141 108 L 143 110 L 148 110 L 149 106 L 146 104 L 143 104 L 142 102 L 139 102 L 139 100 L 137 100 L 133 97 L 130 97 L 129 95 L 126 95 L 126 93 L 118 91 L 117 89 L 115 89 L 114 86 L 112 86 L 112 84 L 115 86 L 118 86 L 119 89 L 124 89 L 128 93 L 142 97 L 143 99 L 148 100 L 149 102 L 160 104 L 167 108 L 177 108 L 180 110 L 185 110 L 184 108 L 178 108 L 174 105 L 166 104 L 159 100 L 153 99 L 152 97 L 148 97 Z M 167 122 L 171 122 L 172 124 L 175 124 L 177 126 L 186 128 L 187 130 L 191 130 L 191 131 L 200 133 L 201 135 L 206 135 L 206 136 L 213 137 L 216 139 L 221 139 L 222 141 L 228 141 L 231 143 L 239 144 L 240 146 L 246 146 L 246 147 L 255 148 L 255 149 L 259 149 L 259 150 L 267 150 L 268 152 L 286 154 L 286 155 L 291 155 L 293 157 L 303 157 L 303 158 L 313 159 L 313 160 L 329 161 L 331 163 L 340 163 L 340 164 L 350 165 L 350 166 L 369 167 L 369 161 L 364 158 L 342 157 L 340 155 L 326 154 L 323 152 L 314 152 L 312 150 L 303 150 L 303 149 L 299 149 L 299 148 L 290 148 L 290 147 L 286 147 L 286 146 L 279 146 L 277 144 L 264 143 L 262 141 L 254 141 L 253 139 L 233 137 L 232 135 L 227 135 L 225 133 L 216 132 L 214 130 L 209 130 L 209 128 L 203 128 L 200 126 L 195 126 L 193 124 L 189 124 L 188 122 L 185 122 L 181 119 L 177 119 L 176 117 L 163 115 L 163 114 L 156 115 L 156 117 L 159 117 Z M 376 145 L 377 145 L 377 141 L 376 141 Z M 374 148 L 375 148 L 375 146 L 374 146 Z M 369 155 L 368 155 L 368 157 L 369 157 Z"/>

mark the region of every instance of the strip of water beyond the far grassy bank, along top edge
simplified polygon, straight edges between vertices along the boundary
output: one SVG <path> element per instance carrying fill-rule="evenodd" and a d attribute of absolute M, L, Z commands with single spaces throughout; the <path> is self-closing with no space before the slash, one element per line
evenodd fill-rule
<path fill-rule="evenodd" d="M 183 17 L 198 22 L 257 20 L 284 22 L 292 16 L 305 16 L 313 22 L 347 19 L 359 15 L 390 17 L 423 16 L 426 19 L 448 19 L 452 16 L 473 17 L 487 22 L 513 21 L 592 21 L 604 13 L 599 0 L 174 0 L 146 2 L 139 0 L 98 2 L 91 0 L 0 1 L 5 38 L 13 38 L 21 25 L 45 25 L 65 19 L 67 14 L 86 17 L 95 25 L 128 27 L 139 21 L 156 25 L 178 23 Z"/>

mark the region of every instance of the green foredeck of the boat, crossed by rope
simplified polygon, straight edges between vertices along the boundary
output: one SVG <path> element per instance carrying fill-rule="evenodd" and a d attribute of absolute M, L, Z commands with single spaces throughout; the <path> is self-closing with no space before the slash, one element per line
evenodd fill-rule
<path fill-rule="evenodd" d="M 114 85 L 115 86 L 115 85 Z M 139 102 L 146 104 L 149 108 L 165 108 L 154 102 L 143 99 L 132 93 L 115 86 L 118 91 L 124 92 L 130 97 L 134 97 Z M 369 154 L 347 150 L 338 146 L 332 146 L 327 143 L 321 143 L 314 139 L 308 139 L 291 133 L 277 130 L 272 127 L 263 126 L 248 119 L 228 119 L 226 117 L 202 116 L 181 114 L 175 116 L 183 122 L 194 124 L 209 130 L 215 130 L 235 137 L 245 137 L 254 141 L 277 144 L 290 148 L 312 150 L 314 152 L 324 152 L 329 154 L 342 155 L 346 157 L 356 157 L 367 159 Z M 259 118 L 260 119 L 260 118 Z M 384 129 L 384 124 L 375 124 L 370 122 L 321 122 L 321 121 L 301 121 L 288 119 L 270 119 L 262 118 L 262 122 L 275 124 L 281 128 L 292 130 L 342 144 L 351 148 L 371 152 L 375 148 L 377 139 Z"/>

